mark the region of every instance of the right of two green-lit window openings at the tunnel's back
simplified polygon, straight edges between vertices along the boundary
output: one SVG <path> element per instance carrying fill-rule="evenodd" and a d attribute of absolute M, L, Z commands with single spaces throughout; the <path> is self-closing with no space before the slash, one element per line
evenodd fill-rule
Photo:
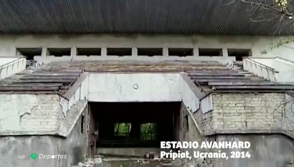
<path fill-rule="evenodd" d="M 141 140 L 156 140 L 156 123 L 141 124 Z"/>

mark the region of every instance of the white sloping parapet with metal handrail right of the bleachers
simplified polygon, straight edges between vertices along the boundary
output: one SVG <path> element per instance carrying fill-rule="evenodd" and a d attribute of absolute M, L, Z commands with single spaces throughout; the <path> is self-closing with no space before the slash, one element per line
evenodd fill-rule
<path fill-rule="evenodd" d="M 243 68 L 266 80 L 277 82 L 276 74 L 278 71 L 251 58 L 243 59 Z"/>

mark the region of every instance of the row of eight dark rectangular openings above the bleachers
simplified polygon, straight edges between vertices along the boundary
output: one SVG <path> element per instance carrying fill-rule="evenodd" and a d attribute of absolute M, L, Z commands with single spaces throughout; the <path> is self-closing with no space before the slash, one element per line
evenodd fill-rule
<path fill-rule="evenodd" d="M 32 59 L 34 56 L 41 55 L 42 48 L 17 48 L 17 55 L 26 56 Z M 199 56 L 223 56 L 222 49 L 218 48 L 199 48 Z M 109 56 L 131 56 L 132 48 L 107 48 Z M 48 48 L 46 55 L 70 56 L 71 48 Z M 81 56 L 100 56 L 101 48 L 77 48 L 76 55 Z M 162 56 L 162 48 L 137 48 L 138 56 Z M 169 56 L 193 56 L 192 48 L 168 48 Z M 228 56 L 247 57 L 251 56 L 250 49 L 228 49 Z"/>

